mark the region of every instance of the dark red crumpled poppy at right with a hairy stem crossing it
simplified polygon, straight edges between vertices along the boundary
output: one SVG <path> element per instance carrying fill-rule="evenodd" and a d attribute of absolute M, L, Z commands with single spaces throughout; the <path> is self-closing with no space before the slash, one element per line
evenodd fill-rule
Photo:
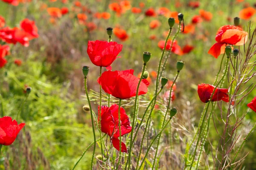
<path fill-rule="evenodd" d="M 198 85 L 198 96 L 200 100 L 204 103 L 209 102 L 209 99 L 212 96 L 212 92 L 214 90 L 215 86 L 204 84 Z M 229 96 L 227 94 L 228 89 L 227 88 L 216 88 L 213 96 L 212 96 L 212 102 L 223 100 L 224 102 L 229 102 Z"/>

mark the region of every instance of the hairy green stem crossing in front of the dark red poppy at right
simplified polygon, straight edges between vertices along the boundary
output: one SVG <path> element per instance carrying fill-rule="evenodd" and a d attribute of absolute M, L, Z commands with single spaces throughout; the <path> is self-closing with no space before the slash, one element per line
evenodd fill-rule
<path fill-rule="evenodd" d="M 214 95 L 215 90 L 217 89 L 218 85 L 224 80 L 224 77 L 225 77 L 226 74 L 227 74 L 228 63 L 229 63 L 229 56 L 227 57 L 227 62 L 226 62 L 226 67 L 225 67 L 224 74 L 223 74 L 223 76 L 221 77 L 221 79 L 220 79 L 220 81 L 218 82 L 218 84 L 215 86 L 214 90 L 212 91 L 212 95 L 211 95 L 211 98 L 209 99 L 209 101 L 212 100 L 212 96 Z M 210 102 L 207 103 L 206 110 L 205 110 L 205 112 L 204 112 L 204 114 L 203 114 L 203 116 L 204 116 L 204 117 L 203 117 L 203 121 L 202 121 L 201 126 L 199 127 L 198 140 L 197 140 L 196 145 L 195 145 L 195 150 L 194 150 L 194 154 L 193 154 L 193 158 L 192 158 L 192 162 L 191 162 L 191 164 L 190 164 L 189 170 L 192 169 L 193 163 L 194 163 L 194 161 L 195 161 L 195 155 L 196 155 L 198 143 L 199 143 L 199 141 L 201 140 L 201 135 L 202 135 L 203 126 L 204 126 L 204 120 L 205 120 L 205 117 L 206 117 L 206 115 L 207 115 L 207 111 L 208 111 L 208 108 L 209 108 L 209 103 L 210 103 Z M 197 133 L 195 134 L 195 136 L 196 136 L 196 135 L 197 135 Z"/>

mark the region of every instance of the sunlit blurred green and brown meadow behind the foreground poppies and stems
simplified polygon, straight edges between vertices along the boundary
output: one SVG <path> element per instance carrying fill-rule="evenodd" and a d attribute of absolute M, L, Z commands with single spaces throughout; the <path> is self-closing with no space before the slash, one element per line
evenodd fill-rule
<path fill-rule="evenodd" d="M 163 129 L 159 146 L 157 146 L 157 138 L 152 147 L 149 147 L 154 137 L 162 130 L 163 118 L 168 108 L 169 94 L 166 96 L 166 92 L 169 92 L 171 87 L 168 83 L 158 95 L 154 107 L 152 106 L 155 109 L 152 109 L 147 126 L 148 113 L 146 114 L 134 147 L 128 150 L 128 153 L 122 153 L 119 167 L 117 166 L 119 151 L 111 147 L 107 135 L 108 137 L 105 136 L 102 140 L 104 143 L 102 149 L 104 153 L 108 153 L 110 148 L 113 149 L 110 155 L 107 154 L 113 157 L 104 158 L 102 161 L 101 142 L 98 141 L 93 169 L 128 169 L 125 164 L 131 151 L 130 169 L 135 170 L 140 146 L 143 146 L 141 160 L 138 160 L 138 166 L 142 165 L 141 169 L 256 169 L 254 140 L 256 133 L 253 131 L 251 136 L 246 138 L 256 122 L 255 111 L 247 107 L 256 96 L 254 89 L 256 14 L 254 11 L 248 19 L 242 19 L 241 13 L 239 15 L 244 8 L 251 7 L 255 10 L 254 0 L 243 2 L 240 2 L 241 0 L 128 0 L 125 2 L 128 5 L 122 0 L 80 0 L 80 5 L 76 0 L 68 0 L 67 3 L 63 3 L 62 0 L 50 1 L 31 0 L 13 6 L 0 0 L 0 16 L 5 19 L 3 28 L 20 27 L 20 22 L 27 18 L 35 21 L 39 35 L 29 41 L 28 47 L 19 42 L 7 43 L 0 37 L 0 44 L 8 44 L 10 47 L 9 55 L 5 56 L 7 63 L 0 67 L 0 117 L 11 116 L 18 123 L 26 123 L 13 144 L 2 146 L 0 170 L 72 170 L 84 150 L 93 143 L 91 114 L 89 110 L 83 109 L 84 105 L 88 106 L 88 101 L 84 91 L 82 67 L 84 65 L 90 67 L 87 88 L 92 111 L 98 116 L 100 98 L 102 105 L 108 105 L 108 95 L 102 90 L 100 97 L 97 82 L 100 68 L 88 57 L 87 42 L 108 41 L 109 35 L 106 31 L 108 27 L 114 28 L 111 41 L 123 45 L 118 55 L 121 58 L 117 58 L 111 65 L 112 71 L 134 69 L 134 75 L 140 78 L 144 63 L 143 52 L 151 53 L 151 58 L 145 67 L 150 84 L 148 93 L 139 96 L 137 121 L 134 123 L 134 128 L 137 128 L 149 102 L 154 99 L 157 82 L 160 83 L 158 89 L 161 86 L 155 74 L 158 72 L 164 47 L 160 48 L 159 42 L 163 41 L 164 45 L 169 33 L 169 17 L 174 17 L 177 21 L 172 27 L 169 40 L 170 42 L 176 40 L 178 45 L 176 48 L 181 52 L 178 55 L 177 52 L 172 50 L 169 52 L 169 49 L 166 49 L 160 64 L 160 72 L 163 70 L 161 76 L 174 81 L 177 61 L 185 62 L 175 82 L 175 99 L 170 105 L 177 108 L 177 114 Z M 115 11 L 116 9 L 111 7 L 113 3 L 119 4 L 122 10 Z M 68 12 L 56 17 L 55 11 L 51 16 L 49 10 L 47 11 L 50 7 L 67 7 Z M 133 7 L 141 11 L 134 13 Z M 170 13 L 161 11 L 162 7 L 167 8 Z M 146 11 L 149 8 L 154 9 L 153 16 L 147 16 Z M 212 18 L 207 21 L 200 16 L 200 10 L 209 11 Z M 107 12 L 108 16 L 104 17 L 102 14 L 99 17 L 99 13 L 102 12 Z M 175 12 L 183 14 L 183 21 L 178 21 Z M 79 14 L 84 14 L 86 18 L 79 18 Z M 192 19 L 195 15 L 198 15 L 200 21 L 193 23 Z M 227 56 L 220 54 L 216 59 L 208 54 L 208 51 L 216 42 L 218 29 L 224 25 L 234 25 L 234 17 L 240 17 L 239 26 L 248 33 L 248 40 L 244 45 L 233 45 L 234 48 L 239 49 L 239 57 L 234 60 L 233 53 L 230 53 L 230 62 L 227 63 L 225 72 Z M 152 26 L 153 20 L 158 21 L 156 26 Z M 183 32 L 183 24 L 185 32 Z M 192 30 L 189 30 L 188 26 L 192 27 Z M 0 33 L 3 28 L 0 24 Z M 186 53 L 183 49 L 186 45 L 192 46 L 192 51 Z M 222 56 L 224 56 L 223 60 Z M 243 65 L 248 57 L 250 61 Z M 20 59 L 21 65 L 15 64 L 15 59 Z M 166 65 L 163 68 L 165 59 Z M 236 76 L 233 76 L 234 61 L 238 61 Z M 104 71 L 106 71 L 105 67 L 102 68 L 102 72 Z M 217 74 L 218 79 L 216 79 Z M 241 80 L 241 77 L 244 79 Z M 232 102 L 224 101 L 201 102 L 198 97 L 198 84 L 214 85 L 215 79 L 221 81 L 218 84 L 219 88 L 229 89 L 230 99 L 232 95 L 234 96 L 234 105 Z M 28 86 L 32 89 L 30 93 L 26 93 Z M 231 87 L 233 91 L 230 90 Z M 121 103 L 131 124 L 134 103 L 135 96 L 124 99 Z M 119 99 L 111 96 L 110 105 L 112 104 L 118 105 Z M 207 105 L 209 110 L 202 121 Z M 227 116 L 228 113 L 230 115 Z M 99 139 L 96 116 L 93 120 L 96 139 Z M 203 129 L 200 129 L 201 125 Z M 148 129 L 143 138 L 146 127 Z M 102 136 L 104 134 L 102 133 Z M 199 134 L 202 135 L 201 138 L 198 138 Z M 122 136 L 122 142 L 128 149 L 130 138 L 131 133 Z M 141 139 L 144 139 L 142 145 Z M 241 152 L 236 155 L 244 140 L 244 147 L 241 147 Z M 149 153 L 141 164 L 148 147 Z M 157 153 L 156 148 L 158 148 Z M 93 146 L 88 148 L 75 169 L 90 170 L 92 156 Z M 156 157 L 155 162 L 154 157 Z M 236 157 L 235 163 L 234 157 Z"/>

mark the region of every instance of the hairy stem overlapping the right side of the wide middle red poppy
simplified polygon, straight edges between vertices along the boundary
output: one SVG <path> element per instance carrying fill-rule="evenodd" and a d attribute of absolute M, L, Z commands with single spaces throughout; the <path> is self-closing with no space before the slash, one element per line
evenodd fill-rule
<path fill-rule="evenodd" d="M 132 148 L 132 138 L 133 138 L 133 132 L 134 132 L 134 125 L 135 125 L 135 122 L 137 122 L 137 119 L 136 119 L 136 117 L 137 117 L 137 107 L 139 107 L 138 106 L 138 93 L 139 93 L 139 88 L 140 88 L 140 82 L 143 78 L 143 74 L 144 74 L 146 65 L 147 64 L 144 63 L 142 73 L 141 73 L 141 76 L 140 76 L 140 80 L 139 80 L 139 83 L 137 85 L 135 104 L 134 104 L 134 114 L 133 114 L 132 127 L 131 127 L 131 139 L 130 139 L 129 155 L 128 155 L 128 160 L 127 160 L 128 161 L 128 169 L 130 168 L 130 163 L 131 163 L 131 148 Z"/>

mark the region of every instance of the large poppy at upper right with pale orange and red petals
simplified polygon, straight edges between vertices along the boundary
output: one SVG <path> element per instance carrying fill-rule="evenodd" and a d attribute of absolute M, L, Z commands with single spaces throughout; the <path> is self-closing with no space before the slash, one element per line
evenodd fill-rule
<path fill-rule="evenodd" d="M 243 31 L 238 26 L 222 26 L 216 33 L 215 40 L 217 41 L 209 49 L 208 54 L 218 58 L 220 54 L 224 54 L 226 44 L 230 45 L 244 45 L 247 42 L 248 33 Z"/>

